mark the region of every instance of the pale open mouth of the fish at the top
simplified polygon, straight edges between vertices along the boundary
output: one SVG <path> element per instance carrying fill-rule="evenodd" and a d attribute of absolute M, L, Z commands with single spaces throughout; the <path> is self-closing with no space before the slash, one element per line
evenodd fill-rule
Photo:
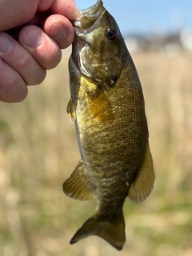
<path fill-rule="evenodd" d="M 101 17 L 102 12 L 105 10 L 102 4 L 102 0 L 98 0 L 94 6 L 90 6 L 85 10 L 81 10 L 81 16 L 72 21 L 74 26 L 74 32 L 76 33 L 78 29 L 89 30 L 91 26 Z"/>

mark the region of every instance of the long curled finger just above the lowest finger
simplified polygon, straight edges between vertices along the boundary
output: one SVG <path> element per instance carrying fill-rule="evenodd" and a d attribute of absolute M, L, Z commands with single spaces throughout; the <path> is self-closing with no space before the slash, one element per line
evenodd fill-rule
<path fill-rule="evenodd" d="M 46 70 L 6 33 L 0 33 L 0 58 L 18 72 L 27 85 L 39 84 L 46 77 Z"/>

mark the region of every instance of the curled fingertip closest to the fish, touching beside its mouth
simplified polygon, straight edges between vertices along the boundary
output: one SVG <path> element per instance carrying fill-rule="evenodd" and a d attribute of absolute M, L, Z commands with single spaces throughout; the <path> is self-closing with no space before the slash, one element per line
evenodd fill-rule
<path fill-rule="evenodd" d="M 74 28 L 70 21 L 62 15 L 54 14 L 46 18 L 44 30 L 62 49 L 70 46 L 74 41 Z"/>

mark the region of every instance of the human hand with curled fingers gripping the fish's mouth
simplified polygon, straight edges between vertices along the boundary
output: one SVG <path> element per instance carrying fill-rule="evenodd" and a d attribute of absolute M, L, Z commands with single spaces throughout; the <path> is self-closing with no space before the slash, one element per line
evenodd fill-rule
<path fill-rule="evenodd" d="M 58 65 L 79 15 L 73 0 L 0 1 L 0 101 L 22 101 Z"/>

